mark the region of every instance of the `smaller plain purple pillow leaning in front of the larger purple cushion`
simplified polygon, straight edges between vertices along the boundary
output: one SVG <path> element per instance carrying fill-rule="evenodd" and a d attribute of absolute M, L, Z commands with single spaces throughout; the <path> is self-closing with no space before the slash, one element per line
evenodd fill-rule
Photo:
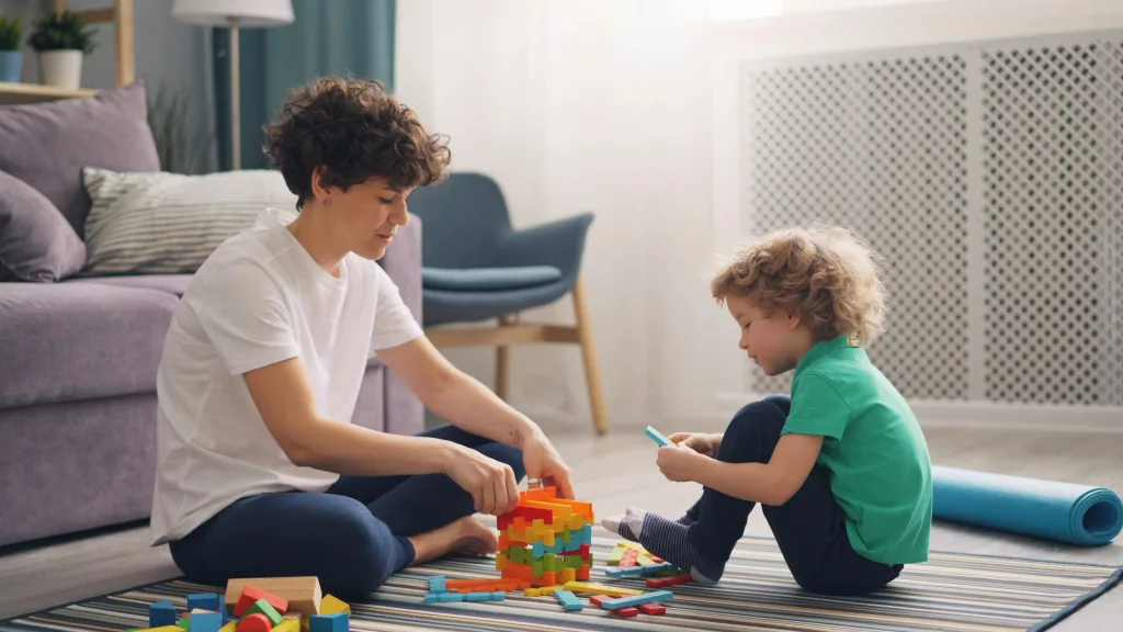
<path fill-rule="evenodd" d="M 85 244 L 55 205 L 0 171 L 0 281 L 51 283 L 84 264 Z"/>

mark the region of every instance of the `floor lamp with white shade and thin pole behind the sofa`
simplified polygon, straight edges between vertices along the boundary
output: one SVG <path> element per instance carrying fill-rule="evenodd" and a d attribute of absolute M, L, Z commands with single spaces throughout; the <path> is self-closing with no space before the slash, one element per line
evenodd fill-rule
<path fill-rule="evenodd" d="M 230 160 L 241 169 L 241 94 L 238 29 L 291 24 L 291 0 L 175 0 L 172 16 L 183 22 L 230 29 Z"/>

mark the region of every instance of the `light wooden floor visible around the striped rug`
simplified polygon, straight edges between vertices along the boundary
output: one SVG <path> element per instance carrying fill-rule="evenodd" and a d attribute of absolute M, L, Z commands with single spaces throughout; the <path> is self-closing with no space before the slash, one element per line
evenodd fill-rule
<path fill-rule="evenodd" d="M 669 433 L 686 428 L 663 430 Z M 1123 493 L 1123 433 L 926 428 L 925 435 L 937 464 L 1083 482 Z M 638 430 L 615 428 L 608 436 L 596 437 L 579 428 L 557 431 L 554 436 L 575 471 L 579 497 L 592 500 L 597 515 L 621 513 L 636 505 L 677 516 L 700 493 L 694 484 L 669 482 L 659 476 L 654 444 Z M 748 532 L 769 534 L 759 512 L 750 517 Z M 179 575 L 166 548 L 149 548 L 147 539 L 146 526 L 134 526 L 0 553 L 0 619 Z M 946 524 L 937 525 L 932 548 L 1123 566 L 1123 543 L 1075 549 Z M 1123 587 L 1054 630 L 1120 630 L 1120 619 Z"/>

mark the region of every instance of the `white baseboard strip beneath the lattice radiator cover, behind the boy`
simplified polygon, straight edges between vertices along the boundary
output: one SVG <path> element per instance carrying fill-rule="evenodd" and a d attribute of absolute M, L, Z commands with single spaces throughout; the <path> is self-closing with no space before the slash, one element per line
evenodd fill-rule
<path fill-rule="evenodd" d="M 732 415 L 766 394 L 720 392 L 720 412 Z M 1054 432 L 1123 433 L 1123 407 L 997 404 L 992 401 L 910 400 L 922 427 L 1005 428 Z"/>

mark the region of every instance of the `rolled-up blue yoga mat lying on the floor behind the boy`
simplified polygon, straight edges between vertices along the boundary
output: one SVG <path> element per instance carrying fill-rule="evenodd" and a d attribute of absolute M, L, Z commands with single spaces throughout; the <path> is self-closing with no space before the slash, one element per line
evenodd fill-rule
<path fill-rule="evenodd" d="M 943 466 L 932 468 L 932 515 L 1085 547 L 1123 530 L 1123 500 L 1110 489 Z"/>

